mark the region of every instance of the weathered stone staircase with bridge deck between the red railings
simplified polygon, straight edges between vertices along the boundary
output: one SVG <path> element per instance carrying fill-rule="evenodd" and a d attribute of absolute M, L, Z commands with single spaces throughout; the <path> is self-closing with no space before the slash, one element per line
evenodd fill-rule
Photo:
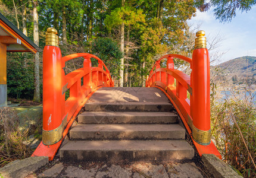
<path fill-rule="evenodd" d="M 165 94 L 157 88 L 101 88 L 85 104 L 63 160 L 183 160 L 194 150 Z"/>

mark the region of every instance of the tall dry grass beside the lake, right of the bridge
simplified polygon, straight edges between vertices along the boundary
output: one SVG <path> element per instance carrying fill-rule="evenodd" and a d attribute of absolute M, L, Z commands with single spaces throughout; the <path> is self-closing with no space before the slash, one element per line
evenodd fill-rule
<path fill-rule="evenodd" d="M 254 96 L 239 98 L 238 94 L 234 90 L 228 98 L 211 103 L 212 138 L 223 161 L 243 177 L 256 177 L 256 108 L 251 98 Z"/>

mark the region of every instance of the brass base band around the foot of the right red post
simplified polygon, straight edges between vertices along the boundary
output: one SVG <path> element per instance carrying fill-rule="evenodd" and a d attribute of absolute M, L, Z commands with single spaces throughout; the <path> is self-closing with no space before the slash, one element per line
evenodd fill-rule
<path fill-rule="evenodd" d="M 211 143 L 211 129 L 209 131 L 201 131 L 194 125 L 192 126 L 193 139 L 201 145 L 209 145 Z"/>

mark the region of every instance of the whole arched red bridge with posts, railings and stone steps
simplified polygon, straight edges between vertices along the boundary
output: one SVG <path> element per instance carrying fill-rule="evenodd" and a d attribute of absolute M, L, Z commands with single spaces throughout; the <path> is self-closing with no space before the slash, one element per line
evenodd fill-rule
<path fill-rule="evenodd" d="M 43 140 L 32 156 L 52 160 L 69 133 L 60 149 L 60 157 L 67 160 L 191 159 L 195 151 L 221 158 L 211 141 L 210 60 L 204 31 L 196 33 L 192 59 L 161 57 L 142 88 L 114 87 L 104 62 L 89 53 L 62 57 L 57 31 L 47 32 Z M 65 75 L 65 62 L 79 57 L 84 58 L 83 68 Z M 98 61 L 97 67 L 92 67 L 91 58 Z M 174 69 L 174 59 L 189 62 L 191 75 Z M 82 108 L 79 123 L 70 129 Z"/>

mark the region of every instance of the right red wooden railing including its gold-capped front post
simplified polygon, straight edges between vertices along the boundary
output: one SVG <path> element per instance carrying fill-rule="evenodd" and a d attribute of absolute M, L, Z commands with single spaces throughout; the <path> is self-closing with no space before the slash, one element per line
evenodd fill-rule
<path fill-rule="evenodd" d="M 199 31 L 197 37 L 192 59 L 173 54 L 162 56 L 150 71 L 146 87 L 160 88 L 171 100 L 188 134 L 191 135 L 199 155 L 215 154 L 221 158 L 211 141 L 210 59 L 205 47 L 204 31 Z M 190 63 L 192 69 L 190 76 L 174 69 L 174 58 Z M 163 59 L 167 59 L 166 68 L 160 66 Z"/>

